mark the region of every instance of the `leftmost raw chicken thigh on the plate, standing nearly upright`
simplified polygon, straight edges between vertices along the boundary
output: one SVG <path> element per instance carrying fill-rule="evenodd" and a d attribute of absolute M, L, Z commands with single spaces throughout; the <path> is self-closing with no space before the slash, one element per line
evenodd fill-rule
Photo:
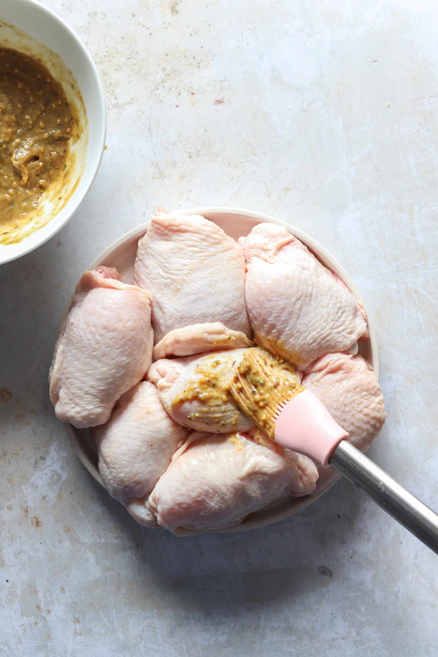
<path fill-rule="evenodd" d="M 116 269 L 87 271 L 76 286 L 49 371 L 56 416 L 78 428 L 103 424 L 146 374 L 154 334 L 147 292 Z"/>

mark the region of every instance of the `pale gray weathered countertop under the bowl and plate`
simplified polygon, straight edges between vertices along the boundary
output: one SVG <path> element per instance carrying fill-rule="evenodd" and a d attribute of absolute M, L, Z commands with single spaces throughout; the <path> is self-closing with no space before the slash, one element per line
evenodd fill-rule
<path fill-rule="evenodd" d="M 436 509 L 435 0 L 46 4 L 95 58 L 108 150 L 74 219 L 0 267 L 0 654 L 435 656 L 437 557 L 352 486 L 263 530 L 143 530 L 47 386 L 79 275 L 157 204 L 266 212 L 361 289 L 388 413 L 370 455 Z"/>

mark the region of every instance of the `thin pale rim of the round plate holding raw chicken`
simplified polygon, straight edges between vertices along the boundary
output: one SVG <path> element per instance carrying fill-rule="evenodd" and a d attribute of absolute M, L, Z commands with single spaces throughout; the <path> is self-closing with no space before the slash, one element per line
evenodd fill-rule
<path fill-rule="evenodd" d="M 276 217 L 272 217 L 271 215 L 263 214 L 261 212 L 253 212 L 252 210 L 244 210 L 244 208 L 221 208 L 221 207 L 200 207 L 200 208 L 188 208 L 188 210 L 175 210 L 173 212 L 178 212 L 179 214 L 184 214 L 184 215 L 192 215 L 192 214 L 234 214 L 242 217 L 250 217 L 251 219 L 257 219 L 259 221 L 266 221 L 267 223 L 275 223 L 276 225 L 279 226 L 284 226 L 294 235 L 297 237 L 299 240 L 302 242 L 305 242 L 311 250 L 315 252 L 315 254 L 321 254 L 330 262 L 330 267 L 334 267 L 336 269 L 336 273 L 341 277 L 341 279 L 344 281 L 344 283 L 348 286 L 348 288 L 353 292 L 357 300 L 364 306 L 364 302 L 362 300 L 362 295 L 357 289 L 357 286 L 355 283 L 352 281 L 351 277 L 345 271 L 345 269 L 342 267 L 342 265 L 332 256 L 332 254 L 324 248 L 317 240 L 315 240 L 313 237 L 310 235 L 307 235 L 304 231 L 301 231 L 299 228 L 296 226 L 290 225 L 289 223 L 286 223 L 286 221 L 282 221 L 281 219 L 277 219 Z M 99 267 L 113 252 L 116 250 L 116 248 L 119 248 L 122 244 L 127 242 L 128 240 L 131 240 L 132 238 L 135 237 L 141 237 L 141 235 L 144 235 L 146 233 L 146 230 L 148 228 L 148 225 L 150 224 L 150 219 L 148 221 L 144 221 L 144 223 L 141 223 L 140 225 L 136 226 L 135 228 L 131 229 L 131 231 L 128 231 L 124 235 L 121 235 L 118 239 L 116 239 L 108 248 L 106 248 L 102 253 L 91 263 L 89 266 L 89 269 L 94 269 L 95 267 Z M 70 300 L 68 300 L 68 304 L 66 305 L 64 309 L 64 313 L 62 316 L 61 324 L 64 321 L 68 309 L 70 307 L 70 303 L 72 302 L 72 298 L 74 296 L 74 293 L 70 297 Z M 369 340 L 370 340 L 370 346 L 371 346 L 371 353 L 372 353 L 372 361 L 373 361 L 373 370 L 374 373 L 376 374 L 377 379 L 379 379 L 379 355 L 378 355 L 378 346 L 377 346 L 377 341 L 376 341 L 376 334 L 374 333 L 374 327 L 372 325 L 372 321 L 370 317 L 367 318 L 367 325 L 368 325 L 368 332 L 369 332 Z M 66 434 L 68 436 L 68 439 L 70 440 L 70 444 L 74 448 L 74 451 L 76 451 L 77 457 L 79 457 L 79 460 L 87 468 L 88 472 L 93 476 L 93 478 L 99 482 L 100 486 L 105 488 L 102 477 L 100 476 L 99 470 L 97 470 L 95 464 L 91 462 L 89 457 L 85 454 L 85 451 L 83 451 L 81 447 L 81 443 L 77 440 L 76 434 L 74 433 L 74 428 L 71 424 L 64 424 L 64 428 L 66 431 Z M 231 533 L 231 532 L 245 532 L 249 530 L 254 530 L 254 529 L 260 529 L 262 527 L 267 527 L 268 525 L 274 524 L 274 522 L 280 522 L 280 520 L 285 520 L 286 518 L 289 518 L 290 516 L 293 516 L 300 510 L 304 509 L 305 507 L 308 507 L 310 504 L 315 502 L 319 497 L 322 497 L 324 493 L 326 493 L 336 482 L 338 481 L 335 480 L 330 484 L 330 486 L 324 487 L 320 493 L 317 493 L 316 495 L 305 495 L 301 498 L 301 501 L 297 503 L 292 509 L 285 509 L 282 511 L 278 512 L 273 512 L 273 515 L 270 517 L 265 518 L 264 520 L 256 520 L 255 522 L 251 523 L 243 523 L 240 525 L 236 525 L 234 527 L 228 527 L 225 529 L 221 530 L 185 530 L 185 529 L 179 529 L 176 530 L 175 535 L 179 535 L 181 537 L 185 536 L 194 536 L 198 535 L 200 533 Z M 109 494 L 109 493 L 108 493 Z M 294 498 L 296 499 L 296 498 Z"/>

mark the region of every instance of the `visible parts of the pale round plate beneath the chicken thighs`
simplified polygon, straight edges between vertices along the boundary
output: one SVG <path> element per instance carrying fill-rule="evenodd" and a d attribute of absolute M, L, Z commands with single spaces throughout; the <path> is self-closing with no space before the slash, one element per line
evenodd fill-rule
<path fill-rule="evenodd" d="M 228 233 L 230 237 L 238 239 L 242 235 L 248 235 L 252 231 L 253 226 L 261 221 L 268 221 L 270 223 L 276 223 L 280 226 L 284 226 L 295 235 L 297 238 L 304 242 L 306 246 L 317 256 L 326 267 L 332 269 L 338 276 L 347 284 L 351 292 L 355 294 L 356 298 L 363 305 L 361 294 L 357 290 L 355 284 L 338 261 L 318 242 L 309 235 L 306 235 L 302 231 L 293 226 L 288 225 L 284 221 L 279 219 L 274 219 L 274 217 L 269 217 L 265 214 L 260 214 L 259 212 L 251 212 L 250 210 L 239 210 L 238 208 L 191 208 L 190 210 L 180 210 L 181 214 L 190 215 L 190 214 L 200 214 L 210 221 L 214 221 L 220 226 L 225 233 Z M 114 244 L 108 246 L 108 248 L 100 254 L 99 258 L 95 260 L 89 267 L 89 269 L 94 269 L 99 267 L 99 265 L 107 265 L 108 267 L 116 267 L 120 272 L 120 275 L 125 283 L 131 283 L 135 254 L 137 253 L 137 243 L 139 238 L 146 233 L 146 229 L 149 225 L 149 221 L 142 223 L 141 226 L 134 228 L 129 233 L 123 235 L 120 239 L 116 240 Z M 64 318 L 68 313 L 70 307 L 71 299 L 69 300 L 65 310 Z M 284 300 L 284 303 L 287 304 L 287 300 Z M 378 360 L 378 351 L 376 344 L 376 337 L 374 336 L 374 330 L 372 328 L 372 323 L 368 318 L 368 329 L 370 333 L 370 338 L 368 340 L 361 340 L 359 342 L 359 353 L 372 365 L 376 376 L 379 376 L 379 360 Z M 91 440 L 91 435 L 89 429 L 77 429 L 71 424 L 66 424 L 66 432 L 70 441 L 81 459 L 82 463 L 85 465 L 87 470 L 93 475 L 93 477 L 102 484 L 102 478 L 100 477 L 99 470 L 97 469 L 97 452 L 95 445 Z M 225 530 L 219 530 L 219 532 L 242 532 L 244 530 L 254 529 L 257 527 L 263 527 L 269 525 L 278 520 L 283 520 L 292 514 L 296 513 L 300 509 L 307 507 L 307 505 L 314 502 L 318 497 L 323 495 L 332 484 L 320 487 L 315 495 L 306 495 L 305 497 L 288 497 L 287 499 L 280 499 L 272 503 L 271 505 L 260 509 L 259 511 L 252 513 L 248 520 L 245 520 L 241 525 L 232 527 Z M 179 535 L 192 535 L 200 532 L 194 532 L 192 530 L 179 530 L 175 532 Z"/>

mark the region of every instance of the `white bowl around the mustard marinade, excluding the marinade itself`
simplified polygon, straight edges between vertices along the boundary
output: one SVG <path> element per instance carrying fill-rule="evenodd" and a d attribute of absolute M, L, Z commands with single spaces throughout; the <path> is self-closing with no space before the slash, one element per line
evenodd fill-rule
<path fill-rule="evenodd" d="M 59 16 L 35 0 L 1 0 L 0 47 L 41 58 L 74 102 L 81 136 L 72 147 L 66 189 L 72 193 L 41 198 L 29 234 L 15 244 L 0 244 L 0 264 L 20 258 L 53 237 L 76 212 L 89 191 L 105 146 L 106 106 L 99 73 L 91 55 Z M 67 198 L 67 200 L 66 200 Z"/>

